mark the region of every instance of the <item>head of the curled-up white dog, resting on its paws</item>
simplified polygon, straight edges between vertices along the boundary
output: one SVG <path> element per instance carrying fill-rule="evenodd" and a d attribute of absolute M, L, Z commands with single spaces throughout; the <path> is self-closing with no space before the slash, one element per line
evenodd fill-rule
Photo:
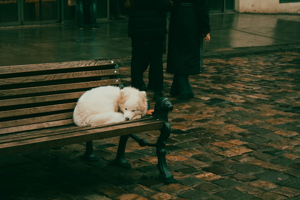
<path fill-rule="evenodd" d="M 125 87 L 121 90 L 119 110 L 124 114 L 126 120 L 138 119 L 145 116 L 147 108 L 147 95 L 145 91 L 139 91 L 132 87 Z"/>

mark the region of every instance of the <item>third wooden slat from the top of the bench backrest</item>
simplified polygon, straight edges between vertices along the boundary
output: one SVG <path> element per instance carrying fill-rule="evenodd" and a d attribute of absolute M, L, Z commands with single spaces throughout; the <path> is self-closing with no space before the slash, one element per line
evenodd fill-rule
<path fill-rule="evenodd" d="M 72 90 L 79 88 L 93 88 L 104 85 L 114 85 L 120 84 L 121 79 L 108 79 L 103 81 L 91 81 L 91 82 L 81 82 L 81 83 L 70 83 L 70 84 L 61 84 L 61 85 L 47 85 L 47 86 L 39 86 L 32 88 L 16 88 L 10 90 L 2 90 L 0 91 L 0 96 L 13 96 L 20 94 L 34 94 L 41 92 L 52 92 L 52 91 L 64 91 L 64 90 Z"/>

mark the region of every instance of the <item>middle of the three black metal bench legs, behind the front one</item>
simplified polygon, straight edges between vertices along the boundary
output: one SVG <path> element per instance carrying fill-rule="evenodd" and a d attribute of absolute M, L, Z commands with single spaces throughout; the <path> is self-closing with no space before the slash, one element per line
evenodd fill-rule
<path fill-rule="evenodd" d="M 131 165 L 125 160 L 125 147 L 126 147 L 128 138 L 129 138 L 129 135 L 120 137 L 117 156 L 116 156 L 115 160 L 113 160 L 113 164 L 122 166 L 122 167 L 131 167 Z"/>

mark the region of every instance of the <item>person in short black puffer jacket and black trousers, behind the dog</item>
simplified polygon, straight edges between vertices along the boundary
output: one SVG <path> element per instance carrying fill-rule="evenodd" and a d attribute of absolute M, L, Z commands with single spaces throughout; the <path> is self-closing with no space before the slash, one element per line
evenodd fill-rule
<path fill-rule="evenodd" d="M 163 44 L 167 34 L 169 0 L 126 0 L 128 9 L 128 37 L 131 37 L 131 86 L 143 90 L 143 73 L 151 70 L 154 100 L 164 90 Z"/>

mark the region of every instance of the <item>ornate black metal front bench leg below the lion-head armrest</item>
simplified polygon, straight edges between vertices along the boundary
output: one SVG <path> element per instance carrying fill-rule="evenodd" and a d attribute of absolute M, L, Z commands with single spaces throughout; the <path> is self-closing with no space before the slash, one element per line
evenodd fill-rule
<path fill-rule="evenodd" d="M 173 175 L 167 167 L 166 161 L 166 144 L 167 139 L 170 136 L 170 124 L 165 122 L 164 127 L 161 129 L 161 135 L 159 136 L 156 143 L 156 155 L 158 158 L 157 167 L 159 170 L 158 179 L 161 179 L 167 183 L 176 183 L 177 180 L 174 179 Z"/>

